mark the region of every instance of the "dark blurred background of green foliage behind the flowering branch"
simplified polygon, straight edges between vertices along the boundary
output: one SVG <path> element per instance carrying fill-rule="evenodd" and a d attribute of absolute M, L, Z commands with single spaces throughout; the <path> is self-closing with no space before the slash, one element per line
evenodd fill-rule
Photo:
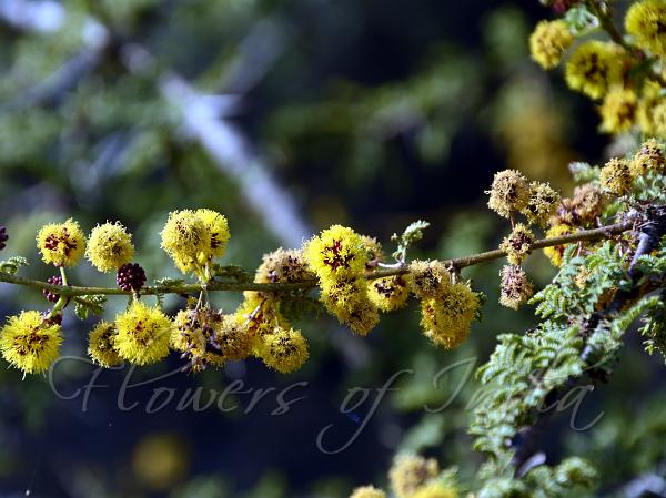
<path fill-rule="evenodd" d="M 27 274 L 46 278 L 34 248 L 42 223 L 74 216 L 89 230 L 120 220 L 149 280 L 175 276 L 158 233 L 169 211 L 198 206 L 228 216 L 226 261 L 249 270 L 332 223 L 377 236 L 390 252 L 392 233 L 428 220 L 414 257 L 492 248 L 507 232 L 484 205 L 494 172 L 519 169 L 566 193 L 569 161 L 605 157 L 592 105 L 528 60 L 527 37 L 547 16 L 527 0 L 1 0 L 4 253 L 29 256 Z M 490 298 L 486 319 L 455 352 L 420 335 L 411 306 L 367 339 L 306 317 L 312 358 L 293 376 L 258 362 L 188 376 L 175 355 L 105 372 L 97 384 L 107 387 L 92 389 L 85 411 L 82 393 L 72 394 L 90 382 L 89 364 L 58 365 L 61 396 L 48 379 L 2 368 L 0 496 L 335 498 L 385 482 L 400 449 L 471 478 L 480 459 L 465 434 L 478 387 L 470 373 L 497 334 L 535 321 L 529 307 L 496 303 L 500 266 L 464 272 Z M 528 270 L 539 285 L 554 273 L 541 255 Z M 73 281 L 112 284 L 89 265 Z M 11 286 L 0 295 L 3 315 L 46 307 Z M 240 296 L 215 299 L 232 309 Z M 124 304 L 112 299 L 109 313 Z M 182 304 L 167 302 L 172 312 Z M 84 355 L 93 322 L 65 317 L 67 355 Z M 546 435 L 602 461 L 610 491 L 666 459 L 660 365 L 639 350 L 627 348 L 632 357 L 610 384 L 586 398 L 583 420 L 606 413 L 594 431 L 572 431 L 564 420 Z M 434 385 L 445 367 L 451 373 Z M 402 369 L 413 373 L 373 411 L 375 389 Z M 119 406 L 125 380 L 143 382 L 125 393 L 128 406 L 139 403 L 131 410 Z M 238 382 L 245 393 L 224 402 L 235 409 L 176 409 L 188 389 L 222 393 Z M 295 382 L 307 385 L 286 398 L 304 399 L 272 416 L 276 393 Z M 359 386 L 371 396 L 341 413 Z M 175 400 L 147 413 L 161 387 L 175 389 Z M 424 410 L 448 399 L 440 414 Z M 331 448 L 360 436 L 344 451 L 323 453 L 316 437 L 331 424 Z"/>

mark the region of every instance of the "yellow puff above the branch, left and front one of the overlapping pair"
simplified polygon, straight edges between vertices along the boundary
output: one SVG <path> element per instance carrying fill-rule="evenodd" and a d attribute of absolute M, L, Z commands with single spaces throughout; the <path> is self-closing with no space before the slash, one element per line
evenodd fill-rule
<path fill-rule="evenodd" d="M 174 211 L 162 230 L 162 248 L 182 273 L 196 270 L 201 253 L 211 251 L 211 232 L 193 211 Z"/>

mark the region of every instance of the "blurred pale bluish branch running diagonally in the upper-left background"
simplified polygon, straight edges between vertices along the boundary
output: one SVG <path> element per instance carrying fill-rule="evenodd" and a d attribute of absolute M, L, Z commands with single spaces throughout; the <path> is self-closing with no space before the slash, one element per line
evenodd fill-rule
<path fill-rule="evenodd" d="M 28 2 L 3 0 L 0 19 L 11 26 L 40 32 L 56 32 L 64 26 L 67 11 L 53 1 Z M 28 93 L 31 103 L 58 102 L 81 78 L 100 62 L 102 50 L 110 42 L 110 33 L 99 21 L 95 37 L 88 37 L 89 51 L 71 59 L 43 84 Z M 92 39 L 91 39 L 92 38 Z M 241 43 L 240 54 L 223 78 L 223 87 L 248 91 L 268 72 L 284 47 L 284 35 L 270 21 L 261 21 Z M 154 58 L 143 47 L 127 43 L 119 48 L 125 68 L 133 73 L 154 68 Z M 204 95 L 183 78 L 165 70 L 157 82 L 165 100 L 180 112 L 183 129 L 196 140 L 214 163 L 238 182 L 250 207 L 256 212 L 269 231 L 283 244 L 301 245 L 311 230 L 303 221 L 290 194 L 269 173 L 270 164 L 253 150 L 242 132 L 223 116 L 229 115 L 240 95 Z M 221 193 L 222 194 L 222 193 Z"/>

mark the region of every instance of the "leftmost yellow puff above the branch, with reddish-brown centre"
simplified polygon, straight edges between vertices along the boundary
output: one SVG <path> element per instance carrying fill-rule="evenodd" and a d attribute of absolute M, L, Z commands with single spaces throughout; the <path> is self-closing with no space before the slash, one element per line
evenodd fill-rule
<path fill-rule="evenodd" d="M 47 264 L 73 266 L 85 252 L 85 237 L 79 223 L 69 218 L 42 226 L 37 234 L 37 248 Z"/>

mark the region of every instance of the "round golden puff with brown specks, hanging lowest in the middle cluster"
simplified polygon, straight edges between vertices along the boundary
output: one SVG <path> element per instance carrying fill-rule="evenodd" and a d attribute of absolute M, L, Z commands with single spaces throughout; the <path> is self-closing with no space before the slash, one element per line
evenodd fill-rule
<path fill-rule="evenodd" d="M 299 331 L 275 327 L 272 334 L 263 336 L 259 349 L 260 357 L 268 367 L 281 374 L 291 374 L 307 359 L 307 343 Z"/>

